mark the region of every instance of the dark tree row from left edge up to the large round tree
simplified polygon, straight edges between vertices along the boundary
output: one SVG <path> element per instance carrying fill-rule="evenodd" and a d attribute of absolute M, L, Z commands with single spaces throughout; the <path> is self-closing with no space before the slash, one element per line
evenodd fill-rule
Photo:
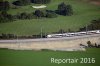
<path fill-rule="evenodd" d="M 16 15 L 8 14 L 6 11 L 0 12 L 0 23 L 5 22 L 12 22 L 17 19 L 39 19 L 39 18 L 55 18 L 57 17 L 57 14 L 55 12 L 48 12 L 48 11 L 42 11 L 42 10 L 36 10 L 33 13 L 20 13 Z"/>

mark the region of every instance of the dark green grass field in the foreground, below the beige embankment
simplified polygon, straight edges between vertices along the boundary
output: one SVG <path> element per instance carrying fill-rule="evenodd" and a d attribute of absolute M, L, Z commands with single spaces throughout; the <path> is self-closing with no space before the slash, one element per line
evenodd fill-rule
<path fill-rule="evenodd" d="M 51 58 L 95 58 L 94 64 L 55 64 Z M 99 66 L 100 49 L 87 49 L 86 52 L 54 52 L 54 51 L 14 51 L 0 49 L 0 66 Z"/>

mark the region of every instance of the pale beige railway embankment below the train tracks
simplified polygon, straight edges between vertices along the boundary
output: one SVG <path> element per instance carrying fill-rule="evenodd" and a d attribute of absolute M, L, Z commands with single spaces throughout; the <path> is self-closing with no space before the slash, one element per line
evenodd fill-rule
<path fill-rule="evenodd" d="M 0 48 L 14 50 L 60 50 L 77 51 L 85 50 L 80 44 L 87 45 L 87 41 L 92 44 L 100 44 L 100 34 L 65 38 L 45 38 L 45 39 L 25 39 L 25 40 L 0 40 Z"/>

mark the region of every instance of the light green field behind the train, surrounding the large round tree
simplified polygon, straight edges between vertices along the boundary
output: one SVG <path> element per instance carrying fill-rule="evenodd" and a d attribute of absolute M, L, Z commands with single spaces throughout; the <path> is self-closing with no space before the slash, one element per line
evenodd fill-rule
<path fill-rule="evenodd" d="M 8 0 L 10 2 L 14 0 Z M 56 10 L 59 3 L 65 2 L 73 7 L 74 15 L 72 16 L 61 16 L 57 18 L 42 18 L 42 19 L 31 19 L 31 20 L 17 20 L 9 23 L 0 23 L 0 34 L 11 33 L 16 35 L 33 35 L 40 34 L 41 28 L 44 33 L 56 32 L 60 29 L 67 31 L 71 29 L 73 31 L 79 30 L 93 19 L 100 18 L 100 6 L 84 2 L 82 0 L 52 0 L 50 4 L 45 4 L 48 10 Z M 21 12 L 31 13 L 33 9 L 30 4 L 27 6 L 21 6 L 18 9 L 10 9 L 8 13 L 17 14 Z"/>

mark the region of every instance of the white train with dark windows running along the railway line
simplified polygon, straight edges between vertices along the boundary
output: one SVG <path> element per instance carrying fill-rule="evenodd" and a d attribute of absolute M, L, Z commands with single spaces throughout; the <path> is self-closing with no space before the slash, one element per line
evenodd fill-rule
<path fill-rule="evenodd" d="M 100 30 L 62 33 L 62 34 L 49 34 L 47 35 L 47 38 L 74 37 L 74 36 L 84 36 L 84 35 L 93 35 L 93 34 L 100 34 Z"/>

